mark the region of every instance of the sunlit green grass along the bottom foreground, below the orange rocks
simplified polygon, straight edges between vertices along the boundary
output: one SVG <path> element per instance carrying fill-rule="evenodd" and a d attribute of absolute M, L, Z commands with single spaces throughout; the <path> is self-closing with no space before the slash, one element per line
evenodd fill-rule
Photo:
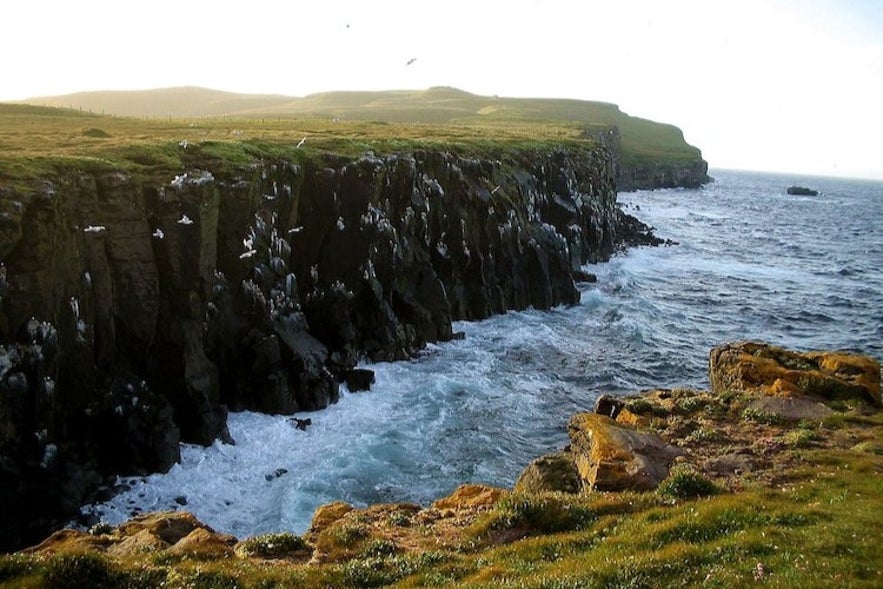
<path fill-rule="evenodd" d="M 0 586 L 51 587 L 59 579 L 166 587 L 880 586 L 883 457 L 806 452 L 804 466 L 774 489 L 675 502 L 658 493 L 512 496 L 489 512 L 495 523 L 485 529 L 493 534 L 459 549 L 414 553 L 372 540 L 344 562 L 271 567 L 248 559 L 160 566 L 134 557 L 13 555 L 0 557 Z M 562 518 L 567 511 L 578 515 Z M 521 533 L 501 540 L 507 529 Z"/>

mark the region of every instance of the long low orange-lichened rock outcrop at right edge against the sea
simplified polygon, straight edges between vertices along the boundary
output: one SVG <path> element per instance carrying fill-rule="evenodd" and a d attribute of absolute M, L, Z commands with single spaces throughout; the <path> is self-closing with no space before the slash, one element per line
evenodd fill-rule
<path fill-rule="evenodd" d="M 847 352 L 794 352 L 759 342 L 718 346 L 708 357 L 712 391 L 861 399 L 881 405 L 880 363 Z"/>

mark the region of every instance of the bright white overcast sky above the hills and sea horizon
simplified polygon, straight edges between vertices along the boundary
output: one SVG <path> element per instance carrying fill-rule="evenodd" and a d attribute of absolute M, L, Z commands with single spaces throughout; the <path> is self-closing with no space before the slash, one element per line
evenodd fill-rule
<path fill-rule="evenodd" d="M 28 0 L 0 22 L 0 101 L 454 86 L 613 102 L 712 167 L 883 179 L 883 0 Z"/>

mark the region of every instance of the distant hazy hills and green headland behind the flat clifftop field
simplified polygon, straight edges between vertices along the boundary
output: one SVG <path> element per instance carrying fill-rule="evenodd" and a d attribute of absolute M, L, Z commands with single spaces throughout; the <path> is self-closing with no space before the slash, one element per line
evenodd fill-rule
<path fill-rule="evenodd" d="M 589 136 L 615 126 L 621 133 L 621 155 L 624 161 L 683 161 L 701 158 L 700 151 L 687 144 L 677 127 L 629 116 L 614 104 L 568 99 L 479 96 L 448 87 L 382 92 L 324 92 L 302 98 L 182 87 L 82 92 L 32 98 L 26 102 L 148 119 L 318 119 L 472 128 L 552 124 L 579 129 Z"/>

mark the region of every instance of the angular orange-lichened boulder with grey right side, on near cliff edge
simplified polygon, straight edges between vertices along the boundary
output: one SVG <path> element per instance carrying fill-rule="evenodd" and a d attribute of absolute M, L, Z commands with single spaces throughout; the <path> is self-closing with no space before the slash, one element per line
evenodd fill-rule
<path fill-rule="evenodd" d="M 650 432 L 637 431 L 597 413 L 577 413 L 567 425 L 585 489 L 655 489 L 683 452 Z"/>

